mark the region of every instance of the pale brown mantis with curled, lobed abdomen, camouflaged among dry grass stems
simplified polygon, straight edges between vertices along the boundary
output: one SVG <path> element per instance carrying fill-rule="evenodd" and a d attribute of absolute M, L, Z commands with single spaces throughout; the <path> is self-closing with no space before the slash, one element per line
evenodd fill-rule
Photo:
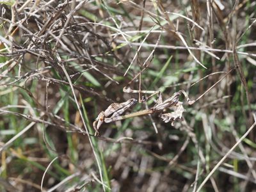
<path fill-rule="evenodd" d="M 124 92 L 127 93 L 152 93 L 152 95 L 155 95 L 156 93 L 159 94 L 159 99 L 157 100 L 157 103 L 149 109 L 144 109 L 141 111 L 136 111 L 134 113 L 129 113 L 127 115 L 122 115 L 127 109 L 131 108 L 134 104 L 138 102 L 137 99 L 129 99 L 122 103 L 113 103 L 111 104 L 105 111 L 101 111 L 95 121 L 93 122 L 93 128 L 95 129 L 95 136 L 99 135 L 99 128 L 105 123 L 111 123 L 118 120 L 124 120 L 126 118 L 132 118 L 134 116 L 143 116 L 143 115 L 149 115 L 152 113 L 159 113 L 163 112 L 167 108 L 173 108 L 172 113 L 164 113 L 161 115 L 161 118 L 164 122 L 175 122 L 175 120 L 182 119 L 182 113 L 185 111 L 182 104 L 183 102 L 179 101 L 180 95 L 184 95 L 184 97 L 187 99 L 187 102 L 189 105 L 193 104 L 195 100 L 190 100 L 188 95 L 184 90 L 180 90 L 179 92 L 176 92 L 170 97 L 169 99 L 166 99 L 163 101 L 161 97 L 161 92 L 154 92 L 154 91 L 136 91 L 131 90 L 131 88 L 124 88 Z M 150 95 L 150 97 L 152 97 Z M 149 98 L 149 97 L 148 97 Z M 147 98 L 147 99 L 148 99 Z M 144 102 L 146 99 L 143 99 L 142 102 Z"/>

